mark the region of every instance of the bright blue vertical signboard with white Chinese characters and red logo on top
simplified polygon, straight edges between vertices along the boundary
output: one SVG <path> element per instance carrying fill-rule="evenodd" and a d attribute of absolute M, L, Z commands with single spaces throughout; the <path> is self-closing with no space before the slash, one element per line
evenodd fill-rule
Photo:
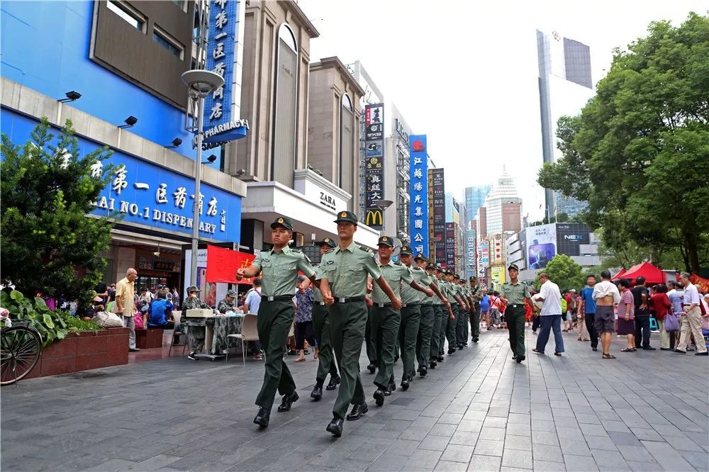
<path fill-rule="evenodd" d="M 428 257 L 428 153 L 426 135 L 408 138 L 411 173 L 411 247 Z"/>

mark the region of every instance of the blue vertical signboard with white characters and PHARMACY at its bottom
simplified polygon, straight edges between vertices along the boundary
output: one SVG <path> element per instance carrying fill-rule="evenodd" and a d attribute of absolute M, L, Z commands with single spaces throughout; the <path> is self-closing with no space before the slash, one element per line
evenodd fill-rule
<path fill-rule="evenodd" d="M 224 79 L 224 85 L 206 96 L 204 101 L 205 147 L 238 140 L 246 136 L 248 123 L 239 119 L 241 101 L 241 64 L 245 1 L 213 0 L 209 2 L 209 31 L 206 69 Z"/>

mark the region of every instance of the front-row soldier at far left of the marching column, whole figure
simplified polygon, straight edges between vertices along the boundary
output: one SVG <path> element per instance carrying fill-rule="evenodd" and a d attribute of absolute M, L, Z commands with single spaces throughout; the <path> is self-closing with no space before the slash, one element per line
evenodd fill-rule
<path fill-rule="evenodd" d="M 261 274 L 261 304 L 257 330 L 266 353 L 266 372 L 261 391 L 256 397 L 259 412 L 254 422 L 267 427 L 276 390 L 283 395 L 279 412 L 288 411 L 298 400 L 296 383 L 283 361 L 283 349 L 293 324 L 293 293 L 298 271 L 315 280 L 315 271 L 305 254 L 288 246 L 293 237 L 291 221 L 281 216 L 271 223 L 273 249 L 259 252 L 248 269 L 237 269 L 236 280 Z"/>

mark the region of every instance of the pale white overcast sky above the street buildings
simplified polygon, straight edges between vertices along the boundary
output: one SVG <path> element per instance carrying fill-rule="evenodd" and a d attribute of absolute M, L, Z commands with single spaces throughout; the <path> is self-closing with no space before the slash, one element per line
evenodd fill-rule
<path fill-rule="evenodd" d="M 320 31 L 311 61 L 361 60 L 387 102 L 445 167 L 446 191 L 515 178 L 523 215 L 542 218 L 536 30 L 591 47 L 594 85 L 613 48 L 645 35 L 650 21 L 679 25 L 706 0 L 448 1 L 299 0 Z M 535 189 L 536 187 L 536 189 Z"/>

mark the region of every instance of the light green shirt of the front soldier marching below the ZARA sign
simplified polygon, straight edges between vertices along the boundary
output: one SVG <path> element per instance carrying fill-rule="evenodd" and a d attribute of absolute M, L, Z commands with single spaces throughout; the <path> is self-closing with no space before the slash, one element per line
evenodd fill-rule
<path fill-rule="evenodd" d="M 381 277 L 374 254 L 352 242 L 345 249 L 338 246 L 323 254 L 317 279 L 328 279 L 336 298 L 361 297 L 367 293 L 367 274 L 374 280 Z"/>

